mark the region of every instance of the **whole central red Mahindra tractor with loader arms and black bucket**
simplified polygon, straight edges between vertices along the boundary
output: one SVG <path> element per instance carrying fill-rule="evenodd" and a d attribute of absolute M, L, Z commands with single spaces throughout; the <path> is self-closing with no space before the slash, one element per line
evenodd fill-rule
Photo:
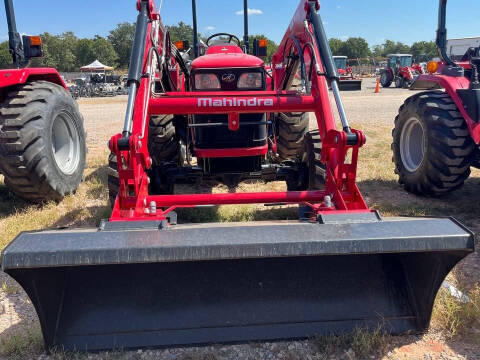
<path fill-rule="evenodd" d="M 243 45 L 216 34 L 199 56 L 195 0 L 191 64 L 154 1 L 137 9 L 124 128 L 109 141 L 110 219 L 22 233 L 2 253 L 46 347 L 425 331 L 473 234 L 451 218 L 383 219 L 365 203 L 356 169 L 366 138 L 342 105 L 320 3 L 300 1 L 270 71 L 262 41 L 250 51 L 248 26 Z M 246 25 L 247 9 L 245 0 Z M 212 179 L 282 180 L 287 191 L 175 192 Z M 223 204 L 299 204 L 301 219 L 176 225 L 176 209 Z"/>

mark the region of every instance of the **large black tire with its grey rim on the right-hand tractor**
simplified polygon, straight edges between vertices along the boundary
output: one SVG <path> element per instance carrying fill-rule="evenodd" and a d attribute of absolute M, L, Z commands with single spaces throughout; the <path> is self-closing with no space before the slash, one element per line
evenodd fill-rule
<path fill-rule="evenodd" d="M 439 196 L 460 188 L 475 150 L 465 119 L 447 93 L 408 98 L 392 130 L 399 183 L 414 194 Z"/>

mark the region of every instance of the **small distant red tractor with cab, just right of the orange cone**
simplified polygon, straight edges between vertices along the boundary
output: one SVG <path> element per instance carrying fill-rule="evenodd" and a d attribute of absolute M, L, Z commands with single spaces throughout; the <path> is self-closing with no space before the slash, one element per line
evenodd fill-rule
<path fill-rule="evenodd" d="M 418 75 L 423 74 L 423 68 L 413 63 L 410 54 L 387 55 L 387 68 L 382 69 L 380 83 L 383 87 L 389 87 L 392 82 L 397 88 L 408 88 Z"/>

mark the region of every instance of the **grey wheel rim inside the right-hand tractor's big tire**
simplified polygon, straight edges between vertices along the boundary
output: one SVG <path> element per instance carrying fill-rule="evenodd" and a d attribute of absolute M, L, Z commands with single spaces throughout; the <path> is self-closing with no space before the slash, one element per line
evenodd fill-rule
<path fill-rule="evenodd" d="M 425 155 L 425 131 L 419 119 L 408 119 L 400 137 L 400 155 L 405 169 L 415 172 Z"/>

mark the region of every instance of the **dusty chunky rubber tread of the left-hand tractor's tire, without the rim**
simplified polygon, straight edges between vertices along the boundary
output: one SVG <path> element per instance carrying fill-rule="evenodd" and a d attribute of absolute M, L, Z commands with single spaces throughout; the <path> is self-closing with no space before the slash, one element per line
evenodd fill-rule
<path fill-rule="evenodd" d="M 0 173 L 5 185 L 26 200 L 60 201 L 76 189 L 47 173 L 45 139 L 39 132 L 45 127 L 39 112 L 48 98 L 65 93 L 63 87 L 48 81 L 28 82 L 10 89 L 0 104 Z M 77 103 L 72 101 L 72 105 L 83 124 Z"/>

